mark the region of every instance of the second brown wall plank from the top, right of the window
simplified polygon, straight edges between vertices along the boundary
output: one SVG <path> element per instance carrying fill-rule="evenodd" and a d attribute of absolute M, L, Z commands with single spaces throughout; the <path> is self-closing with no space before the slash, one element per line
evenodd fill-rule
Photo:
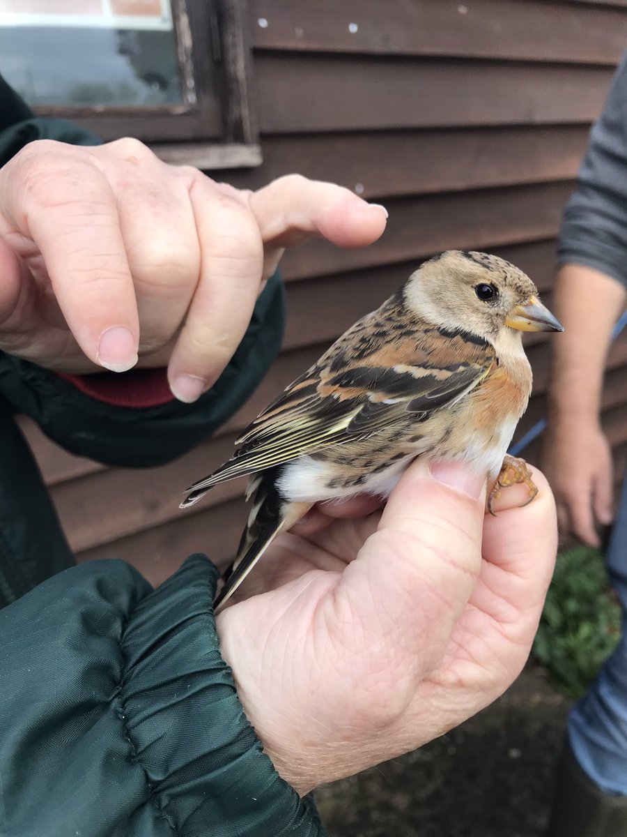
<path fill-rule="evenodd" d="M 264 134 L 588 123 L 612 69 L 433 59 L 259 54 Z"/>

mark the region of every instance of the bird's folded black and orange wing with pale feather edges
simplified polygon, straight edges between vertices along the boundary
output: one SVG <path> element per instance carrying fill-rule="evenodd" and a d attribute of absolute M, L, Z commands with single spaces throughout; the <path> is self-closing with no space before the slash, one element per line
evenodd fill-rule
<path fill-rule="evenodd" d="M 371 341 L 368 351 L 351 352 L 347 336 L 257 416 L 232 458 L 191 485 L 182 506 L 222 481 L 426 418 L 477 386 L 495 362 L 487 342 L 436 326 Z"/>

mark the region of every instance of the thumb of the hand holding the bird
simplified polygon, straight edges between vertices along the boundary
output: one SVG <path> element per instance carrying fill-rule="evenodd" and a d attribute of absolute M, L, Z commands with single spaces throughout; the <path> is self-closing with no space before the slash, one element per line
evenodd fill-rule
<path fill-rule="evenodd" d="M 390 644 L 419 676 L 440 664 L 481 570 L 485 493 L 485 475 L 467 465 L 415 461 L 344 571 L 336 597 L 365 644 L 387 646 L 388 665 Z"/>

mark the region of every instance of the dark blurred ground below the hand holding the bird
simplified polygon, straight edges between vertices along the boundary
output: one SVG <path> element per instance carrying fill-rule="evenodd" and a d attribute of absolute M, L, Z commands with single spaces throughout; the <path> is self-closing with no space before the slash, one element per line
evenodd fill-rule
<path fill-rule="evenodd" d="M 329 837 L 541 837 L 568 701 L 528 668 L 421 750 L 316 794 Z"/>

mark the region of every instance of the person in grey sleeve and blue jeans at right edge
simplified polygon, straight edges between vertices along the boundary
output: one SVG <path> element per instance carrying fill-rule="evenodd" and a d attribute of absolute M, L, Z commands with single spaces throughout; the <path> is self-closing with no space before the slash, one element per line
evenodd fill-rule
<path fill-rule="evenodd" d="M 599 527 L 614 517 L 611 450 L 600 423 L 604 367 L 627 302 L 627 56 L 591 132 L 558 257 L 553 310 L 564 334 L 552 344 L 543 465 L 563 531 L 599 547 Z M 568 716 L 550 837 L 627 834 L 627 480 L 606 558 L 622 634 Z"/>

